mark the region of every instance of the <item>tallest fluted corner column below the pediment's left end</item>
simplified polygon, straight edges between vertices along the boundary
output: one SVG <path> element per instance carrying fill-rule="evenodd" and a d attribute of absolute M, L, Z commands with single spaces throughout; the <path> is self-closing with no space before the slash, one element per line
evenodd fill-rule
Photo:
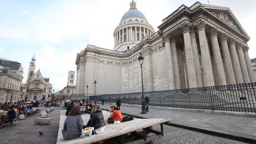
<path fill-rule="evenodd" d="M 210 59 L 210 51 L 206 40 L 205 22 L 200 20 L 197 24 L 197 32 L 199 34 L 199 44 L 201 50 L 201 62 L 203 66 L 204 86 L 214 85 L 212 63 Z"/>

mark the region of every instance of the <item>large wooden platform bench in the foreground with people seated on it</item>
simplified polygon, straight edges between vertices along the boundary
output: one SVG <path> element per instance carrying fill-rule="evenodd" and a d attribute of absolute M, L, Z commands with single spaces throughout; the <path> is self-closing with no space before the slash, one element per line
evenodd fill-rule
<path fill-rule="evenodd" d="M 156 135 L 164 135 L 163 124 L 169 123 L 170 119 L 134 119 L 132 121 L 126 121 L 119 124 L 108 124 L 107 118 L 109 113 L 103 111 L 104 120 L 105 120 L 105 132 L 97 135 L 92 135 L 89 137 L 78 137 L 72 140 L 64 140 L 62 136 L 63 124 L 66 119 L 65 111 L 62 111 L 60 114 L 60 123 L 59 123 L 59 133 L 57 136 L 57 143 L 103 143 L 105 140 L 121 137 L 122 143 L 125 142 L 126 136 L 132 135 L 137 131 L 143 132 L 142 142 L 146 142 L 146 135 L 148 133 L 155 133 Z M 84 124 L 89 120 L 89 114 L 82 115 Z M 152 126 L 157 124 L 161 125 L 161 132 L 152 129 Z"/>

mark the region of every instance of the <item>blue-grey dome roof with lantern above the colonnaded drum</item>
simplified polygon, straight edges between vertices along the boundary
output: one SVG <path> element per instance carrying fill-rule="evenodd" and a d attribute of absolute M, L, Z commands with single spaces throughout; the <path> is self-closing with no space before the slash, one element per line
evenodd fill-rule
<path fill-rule="evenodd" d="M 141 11 L 137 10 L 136 2 L 134 1 L 130 3 L 130 9 L 123 15 L 123 17 L 121 18 L 121 22 L 129 17 L 139 17 L 147 21 L 145 15 Z"/>

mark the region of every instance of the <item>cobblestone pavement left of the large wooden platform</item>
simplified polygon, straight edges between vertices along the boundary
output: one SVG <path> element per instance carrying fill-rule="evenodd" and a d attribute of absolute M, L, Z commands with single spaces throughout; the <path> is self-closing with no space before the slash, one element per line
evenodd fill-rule
<path fill-rule="evenodd" d="M 46 107 L 40 107 L 46 110 Z M 26 117 L 24 120 L 14 121 L 3 129 L 0 129 L 0 143 L 56 143 L 57 132 L 59 129 L 60 110 L 63 108 L 54 107 L 55 110 L 48 113 L 53 121 L 49 125 L 35 124 L 34 119 L 40 117 L 40 111 L 36 114 Z M 44 133 L 39 135 L 39 130 Z"/>

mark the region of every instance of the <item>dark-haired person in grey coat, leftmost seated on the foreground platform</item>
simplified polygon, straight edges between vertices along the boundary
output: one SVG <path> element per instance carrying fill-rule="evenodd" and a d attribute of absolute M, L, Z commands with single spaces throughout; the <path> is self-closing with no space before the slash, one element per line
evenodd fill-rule
<path fill-rule="evenodd" d="M 62 129 L 63 138 L 75 139 L 76 137 L 80 137 L 83 127 L 84 124 L 81 117 L 80 107 L 79 105 L 75 105 L 64 122 Z"/>

